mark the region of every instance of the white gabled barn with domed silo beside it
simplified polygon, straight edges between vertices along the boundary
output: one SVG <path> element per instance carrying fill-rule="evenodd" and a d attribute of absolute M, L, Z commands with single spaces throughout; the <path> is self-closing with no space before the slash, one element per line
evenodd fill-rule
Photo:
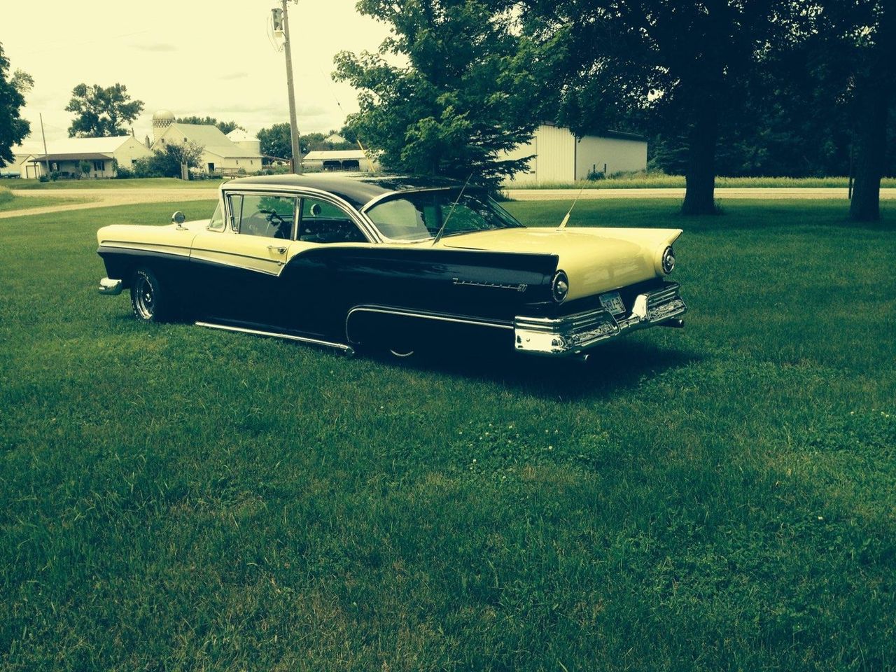
<path fill-rule="evenodd" d="M 194 142 L 202 145 L 200 168 L 209 174 L 234 176 L 257 173 L 262 168 L 262 155 L 257 149 L 233 142 L 218 126 L 178 124 L 168 110 L 152 115 L 152 150 L 163 150 L 167 144 Z"/>

